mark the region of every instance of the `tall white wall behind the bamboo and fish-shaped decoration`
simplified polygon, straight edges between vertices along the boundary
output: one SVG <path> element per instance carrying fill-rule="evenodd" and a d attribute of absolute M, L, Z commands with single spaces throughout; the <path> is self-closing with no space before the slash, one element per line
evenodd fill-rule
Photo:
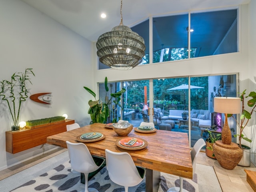
<path fill-rule="evenodd" d="M 21 120 L 66 113 L 80 126 L 89 124 L 90 96 L 83 86 L 93 86 L 93 44 L 20 0 L 0 1 L 0 25 L 0 81 L 33 68 L 30 94 L 52 92 L 51 105 L 28 98 Z M 0 122 L 0 170 L 42 154 L 40 146 L 17 154 L 5 151 L 5 132 L 11 130 L 12 121 L 1 101 Z"/>

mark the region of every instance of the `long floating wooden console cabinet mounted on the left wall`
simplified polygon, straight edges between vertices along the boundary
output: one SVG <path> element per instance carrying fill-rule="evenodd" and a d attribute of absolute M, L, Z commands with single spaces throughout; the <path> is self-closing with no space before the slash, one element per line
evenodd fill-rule
<path fill-rule="evenodd" d="M 6 151 L 12 154 L 36 147 L 46 143 L 46 138 L 65 132 L 66 125 L 73 124 L 74 120 L 43 126 L 36 129 L 24 129 L 18 132 L 6 131 Z"/>

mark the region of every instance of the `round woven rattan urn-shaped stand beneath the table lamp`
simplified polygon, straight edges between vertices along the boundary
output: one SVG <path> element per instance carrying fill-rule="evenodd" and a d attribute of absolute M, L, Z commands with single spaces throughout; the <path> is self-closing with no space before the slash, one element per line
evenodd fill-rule
<path fill-rule="evenodd" d="M 219 164 L 228 170 L 234 169 L 243 156 L 243 150 L 234 142 L 224 144 L 221 140 L 218 140 L 213 144 L 212 148 Z"/>

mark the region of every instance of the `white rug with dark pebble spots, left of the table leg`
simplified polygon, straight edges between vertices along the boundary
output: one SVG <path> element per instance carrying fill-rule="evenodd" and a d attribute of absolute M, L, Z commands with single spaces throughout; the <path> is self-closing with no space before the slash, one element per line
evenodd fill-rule
<path fill-rule="evenodd" d="M 108 176 L 106 167 L 102 168 L 88 182 L 89 188 L 96 188 L 99 192 L 123 192 L 124 187 L 112 182 Z M 11 192 L 78 192 L 84 190 L 84 184 L 80 183 L 80 174 L 71 172 L 70 162 L 65 162 L 54 169 L 41 174 Z M 130 187 L 129 192 L 145 192 L 145 179 L 137 186 Z"/>

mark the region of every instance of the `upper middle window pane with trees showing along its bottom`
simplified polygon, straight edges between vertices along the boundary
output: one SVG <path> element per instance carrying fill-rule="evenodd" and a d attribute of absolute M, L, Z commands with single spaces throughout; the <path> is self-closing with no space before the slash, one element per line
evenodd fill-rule
<path fill-rule="evenodd" d="M 188 14 L 153 18 L 153 63 L 188 58 Z"/>

